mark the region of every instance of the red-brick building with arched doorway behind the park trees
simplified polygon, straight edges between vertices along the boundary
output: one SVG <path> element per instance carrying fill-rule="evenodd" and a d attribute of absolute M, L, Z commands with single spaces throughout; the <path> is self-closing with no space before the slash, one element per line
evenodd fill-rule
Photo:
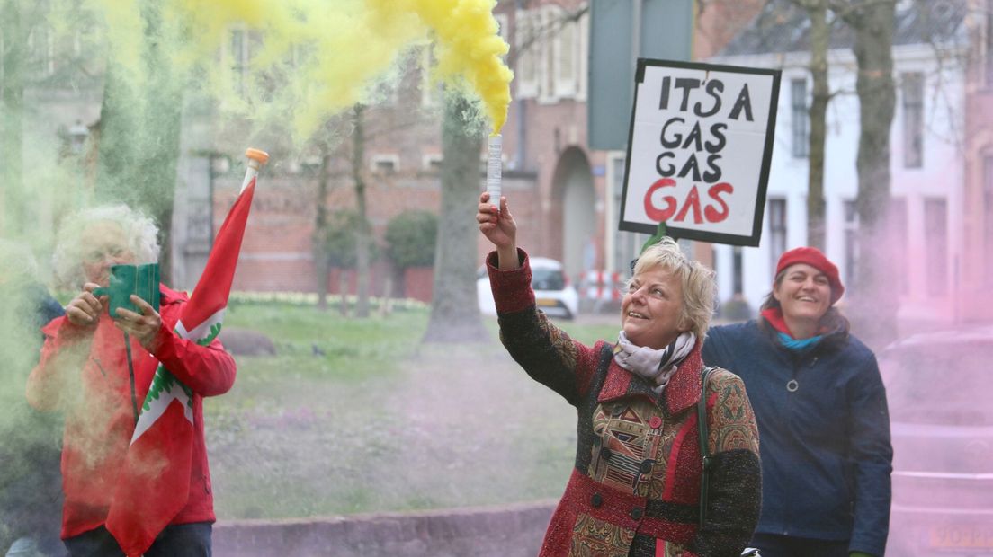
<path fill-rule="evenodd" d="M 749 21 L 759 4 L 758 0 L 701 3 L 706 9 L 697 19 L 695 55 L 715 52 Z M 501 133 L 503 192 L 520 225 L 520 245 L 532 255 L 562 261 L 574 281 L 590 269 L 610 272 L 626 268 L 643 238 L 617 231 L 624 152 L 593 151 L 588 147 L 587 2 L 503 1 L 497 4 L 496 15 L 500 33 L 511 46 L 507 60 L 515 72 L 511 82 L 513 100 Z M 223 56 L 250 58 L 250 41 L 232 44 L 236 48 L 228 49 Z M 237 59 L 229 63 L 237 67 L 249 65 Z M 397 83 L 385 90 L 383 101 L 371 105 L 365 113 L 369 139 L 363 171 L 369 186 L 368 216 L 374 236 L 379 239 L 389 219 L 402 210 L 437 211 L 440 205 L 440 95 L 425 83 L 417 67 L 408 68 Z M 209 133 L 185 136 L 188 145 L 184 148 L 186 163 L 180 182 L 187 184 L 188 190 L 177 195 L 174 221 L 174 255 L 176 261 L 184 262 L 177 266 L 179 283 L 191 283 L 206 258 L 210 236 L 202 207 L 210 191 L 213 188 L 213 220 L 219 222 L 240 178 L 237 165 L 219 175 L 212 172 L 218 155 L 224 154 L 222 161 L 237 161 L 242 148 L 221 143 L 220 137 L 212 138 Z M 240 136 L 225 133 L 223 137 Z M 310 236 L 320 157 L 305 153 L 286 161 L 280 159 L 278 146 L 267 147 L 275 152 L 274 163 L 265 170 L 263 187 L 257 192 L 235 287 L 313 290 L 316 278 Z M 355 206 L 351 167 L 345 163 L 347 151 L 348 145 L 343 144 L 332 172 L 332 209 Z M 213 154 L 213 163 L 212 155 L 203 154 Z M 481 188 L 482 177 L 481 173 Z M 181 198 L 192 202 L 181 207 Z M 202 231 L 199 235 L 198 230 Z M 485 239 L 480 237 L 481 262 L 487 249 Z M 332 273 L 331 292 L 340 289 L 339 273 Z M 372 292 L 382 293 L 389 276 L 388 263 L 375 262 L 370 277 Z M 416 284 L 398 285 L 394 292 L 426 297 L 430 288 L 424 282 L 430 282 L 430 274 L 421 273 L 410 279 Z"/>

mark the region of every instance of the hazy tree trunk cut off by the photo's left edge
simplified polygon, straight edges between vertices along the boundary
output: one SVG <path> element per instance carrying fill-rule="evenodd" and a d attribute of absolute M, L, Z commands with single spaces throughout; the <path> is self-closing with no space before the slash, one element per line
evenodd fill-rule
<path fill-rule="evenodd" d="M 21 0 L 0 4 L 0 37 L 4 38 L 0 61 L 0 232 L 16 238 L 25 232 L 27 204 L 24 191 L 24 85 L 28 32 L 22 25 Z"/>

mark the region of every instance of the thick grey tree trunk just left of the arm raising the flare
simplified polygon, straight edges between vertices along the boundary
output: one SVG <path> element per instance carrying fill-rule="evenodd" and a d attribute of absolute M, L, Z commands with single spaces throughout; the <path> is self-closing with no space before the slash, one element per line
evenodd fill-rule
<path fill-rule="evenodd" d="M 472 106 L 446 94 L 442 122 L 441 216 L 435 253 L 431 317 L 424 342 L 482 342 L 489 336 L 476 299 L 477 223 L 483 138 Z"/>

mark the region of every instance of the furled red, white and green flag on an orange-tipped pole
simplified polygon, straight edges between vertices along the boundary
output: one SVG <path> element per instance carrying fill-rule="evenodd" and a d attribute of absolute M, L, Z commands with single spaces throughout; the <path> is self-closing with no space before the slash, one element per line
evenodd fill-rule
<path fill-rule="evenodd" d="M 249 150 L 249 157 L 252 151 Z M 251 165 L 245 174 L 241 193 L 214 239 L 204 274 L 183 306 L 175 330 L 180 338 L 206 346 L 220 332 L 255 193 L 258 166 Z M 186 506 L 195 435 L 193 391 L 159 364 L 107 514 L 106 528 L 128 557 L 147 551 L 155 537 Z"/>

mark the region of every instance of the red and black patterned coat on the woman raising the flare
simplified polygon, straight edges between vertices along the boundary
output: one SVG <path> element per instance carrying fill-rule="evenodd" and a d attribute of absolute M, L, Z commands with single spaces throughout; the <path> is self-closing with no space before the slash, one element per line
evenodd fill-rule
<path fill-rule="evenodd" d="M 698 527 L 702 460 L 696 403 L 700 345 L 659 396 L 614 362 L 613 345 L 575 342 L 535 307 L 527 255 L 521 267 L 487 267 L 500 338 L 535 381 L 577 410 L 575 469 L 540 555 L 738 555 L 759 518 L 759 432 L 744 385 L 725 370 L 707 390 L 713 455 L 708 512 Z"/>

